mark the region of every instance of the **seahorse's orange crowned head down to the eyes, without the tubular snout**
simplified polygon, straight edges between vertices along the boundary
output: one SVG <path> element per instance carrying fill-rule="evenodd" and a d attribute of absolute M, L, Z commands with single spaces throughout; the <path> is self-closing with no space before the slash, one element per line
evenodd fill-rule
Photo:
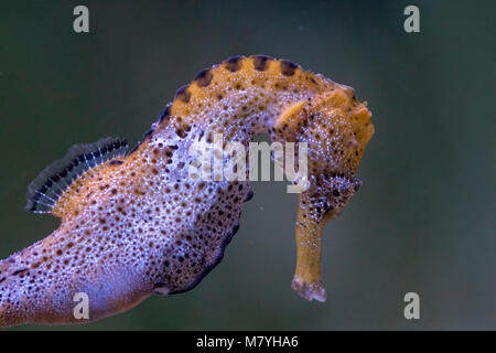
<path fill-rule="evenodd" d="M 276 121 L 273 135 L 285 141 L 306 142 L 306 191 L 312 213 L 332 218 L 358 190 L 356 172 L 365 146 L 374 135 L 371 114 L 353 88 L 335 85 L 309 100 L 290 106 Z M 304 201 L 304 200 L 303 200 Z"/>

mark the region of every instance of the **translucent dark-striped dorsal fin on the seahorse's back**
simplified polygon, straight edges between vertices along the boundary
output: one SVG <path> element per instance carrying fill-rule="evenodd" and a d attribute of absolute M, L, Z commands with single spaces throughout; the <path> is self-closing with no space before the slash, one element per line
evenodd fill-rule
<path fill-rule="evenodd" d="M 105 138 L 88 145 L 75 145 L 63 159 L 46 167 L 28 186 L 25 210 L 31 213 L 51 213 L 53 205 L 73 181 L 87 170 L 125 156 L 128 142 Z"/>

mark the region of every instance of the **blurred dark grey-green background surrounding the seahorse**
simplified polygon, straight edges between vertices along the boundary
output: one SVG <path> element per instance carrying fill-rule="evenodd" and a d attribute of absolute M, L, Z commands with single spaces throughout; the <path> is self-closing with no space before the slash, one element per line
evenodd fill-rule
<path fill-rule="evenodd" d="M 73 31 L 89 9 L 90 32 Z M 420 33 L 403 10 L 420 9 Z M 0 11 L 0 257 L 58 226 L 28 184 L 75 143 L 133 146 L 195 73 L 267 54 L 355 87 L 376 135 L 325 229 L 326 303 L 290 287 L 296 197 L 254 183 L 194 290 L 68 330 L 496 329 L 494 1 L 8 1 Z M 420 320 L 403 317 L 420 295 Z M 15 330 L 55 328 L 21 327 Z"/>

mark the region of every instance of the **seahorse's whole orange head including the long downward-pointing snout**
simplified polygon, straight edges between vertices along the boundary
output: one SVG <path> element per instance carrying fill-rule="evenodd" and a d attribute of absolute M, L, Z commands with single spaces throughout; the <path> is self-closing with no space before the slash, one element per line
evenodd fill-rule
<path fill-rule="evenodd" d="M 374 135 L 367 104 L 356 99 L 353 88 L 327 84 L 325 92 L 284 109 L 271 129 L 274 140 L 306 142 L 308 182 L 299 194 L 292 287 L 308 300 L 319 301 L 326 298 L 320 269 L 322 233 L 358 191 L 356 172 Z"/>

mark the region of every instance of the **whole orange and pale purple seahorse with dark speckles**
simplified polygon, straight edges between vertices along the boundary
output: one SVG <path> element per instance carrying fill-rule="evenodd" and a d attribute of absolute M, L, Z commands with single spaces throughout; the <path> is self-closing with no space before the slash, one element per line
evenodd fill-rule
<path fill-rule="evenodd" d="M 244 146 L 259 133 L 306 143 L 292 288 L 325 301 L 322 233 L 360 185 L 370 117 L 353 88 L 287 60 L 235 56 L 201 71 L 133 150 L 114 138 L 75 146 L 31 183 L 26 210 L 61 225 L 0 261 L 0 327 L 89 322 L 198 285 L 252 195 L 249 180 L 190 178 L 188 149 L 216 133 Z M 74 314 L 76 293 L 88 298 L 87 320 Z"/>

